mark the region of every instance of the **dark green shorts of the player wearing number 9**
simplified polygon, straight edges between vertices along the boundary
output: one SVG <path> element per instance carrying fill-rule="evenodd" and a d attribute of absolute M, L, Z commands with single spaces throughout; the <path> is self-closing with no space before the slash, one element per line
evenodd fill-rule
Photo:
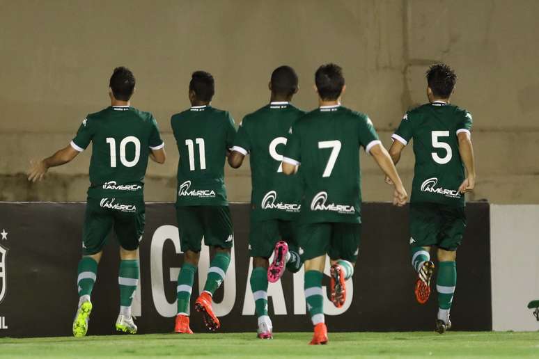
<path fill-rule="evenodd" d="M 269 258 L 275 244 L 286 241 L 289 250 L 297 253 L 297 223 L 270 219 L 267 221 L 251 221 L 249 232 L 249 255 L 251 257 Z"/>

